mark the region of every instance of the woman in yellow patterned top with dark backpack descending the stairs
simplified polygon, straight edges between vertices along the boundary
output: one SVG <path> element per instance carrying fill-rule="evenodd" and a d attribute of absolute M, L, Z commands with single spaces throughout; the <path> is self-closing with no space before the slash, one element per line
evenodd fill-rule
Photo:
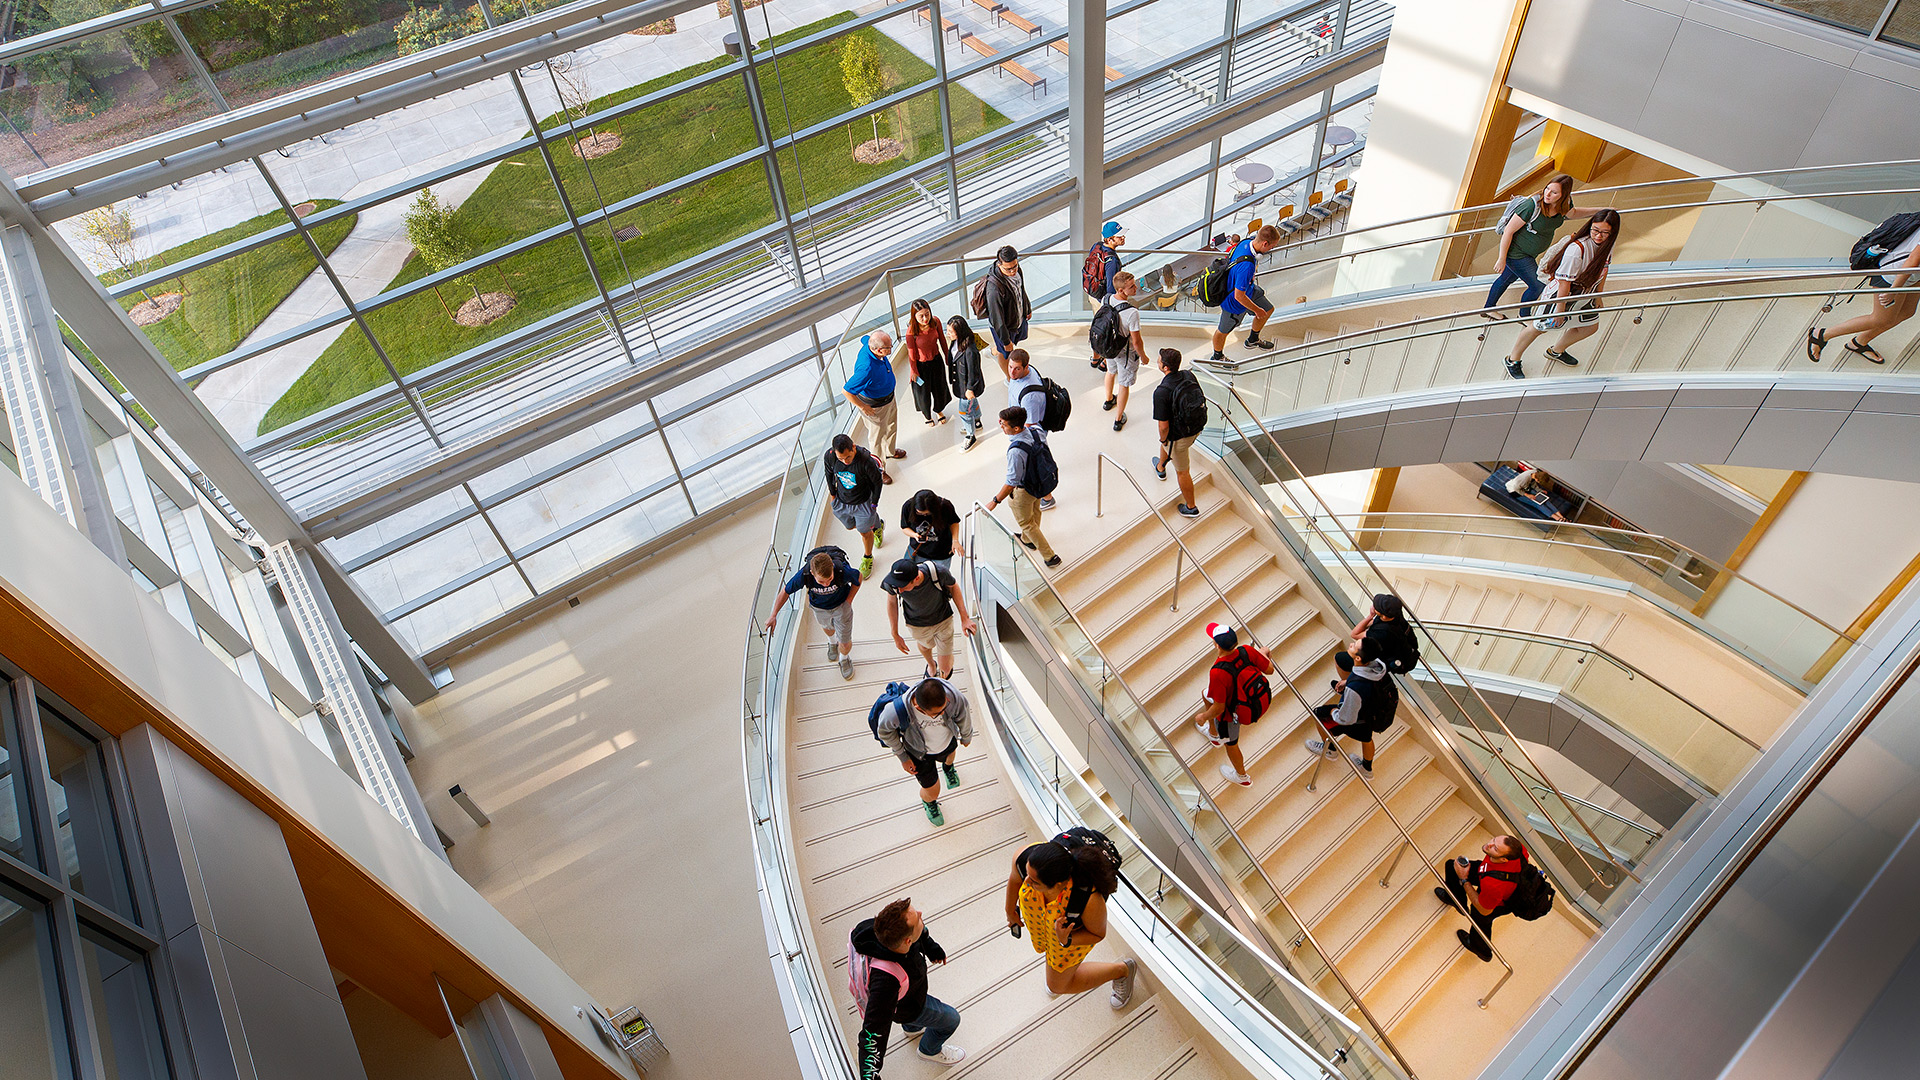
<path fill-rule="evenodd" d="M 1006 878 L 1006 928 L 1018 938 L 1025 926 L 1033 951 L 1046 957 L 1046 990 L 1052 994 L 1085 994 L 1112 982 L 1110 1003 L 1116 1009 L 1133 999 L 1133 957 L 1087 961 L 1087 953 L 1106 938 L 1106 897 L 1119 888 L 1117 874 L 1100 844 L 1068 847 L 1048 840 L 1014 857 L 1014 872 Z M 1077 903 L 1085 909 L 1075 913 Z"/>

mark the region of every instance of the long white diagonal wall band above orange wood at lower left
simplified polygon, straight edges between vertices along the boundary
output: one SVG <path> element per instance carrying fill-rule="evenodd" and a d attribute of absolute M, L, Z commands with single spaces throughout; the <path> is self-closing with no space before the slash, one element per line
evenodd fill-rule
<path fill-rule="evenodd" d="M 593 1001 L 578 982 L 8 471 L 0 471 L 0 588 L 311 822 L 609 1068 L 634 1076 L 591 1022 L 574 1017 L 576 1005 Z"/>

